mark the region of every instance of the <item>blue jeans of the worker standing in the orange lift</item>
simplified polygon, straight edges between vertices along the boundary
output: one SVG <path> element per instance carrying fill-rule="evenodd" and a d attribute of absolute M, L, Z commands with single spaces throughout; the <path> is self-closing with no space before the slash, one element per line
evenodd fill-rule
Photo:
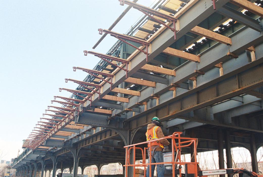
<path fill-rule="evenodd" d="M 151 157 L 151 163 L 159 163 L 159 162 L 163 162 L 163 161 L 164 161 L 163 160 L 163 152 L 162 151 L 154 151 L 154 155 L 153 155 L 153 157 Z M 150 159 L 148 160 L 148 162 L 150 162 Z M 155 169 L 155 165 L 151 165 L 151 177 L 153 177 L 154 169 Z M 165 170 L 164 164 L 157 165 L 158 177 L 164 176 L 164 170 Z M 148 165 L 148 167 L 147 167 L 146 177 L 150 177 L 150 165 Z"/>

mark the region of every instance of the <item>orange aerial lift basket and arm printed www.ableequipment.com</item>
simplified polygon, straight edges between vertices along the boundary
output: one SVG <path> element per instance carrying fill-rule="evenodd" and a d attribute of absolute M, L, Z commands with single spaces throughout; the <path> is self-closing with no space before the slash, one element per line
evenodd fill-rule
<path fill-rule="evenodd" d="M 183 174 L 184 177 L 207 177 L 208 175 L 225 175 L 225 174 L 238 174 L 239 177 L 263 177 L 263 174 L 257 174 L 255 172 L 248 171 L 244 168 L 231 168 L 231 169 L 217 169 L 217 170 L 203 170 L 199 168 L 198 170 L 198 162 L 196 160 L 196 146 L 197 146 L 197 139 L 196 138 L 188 138 L 188 137 L 181 137 L 181 134 L 183 132 L 174 132 L 173 135 L 166 136 L 164 138 L 151 140 L 151 141 L 145 141 L 133 145 L 124 146 L 126 150 L 126 157 L 125 157 L 125 177 L 128 177 L 128 167 L 133 167 L 133 176 L 135 176 L 135 167 L 144 167 L 144 177 L 146 176 L 146 168 L 148 165 L 150 165 L 149 169 L 149 176 L 151 176 L 151 165 L 157 165 L 157 164 L 171 164 L 172 167 L 172 175 L 173 177 L 182 177 L 182 165 L 185 167 L 185 174 Z M 159 141 L 162 139 L 171 139 L 171 161 L 165 161 L 161 163 L 152 163 L 151 158 L 149 158 L 149 162 L 146 163 L 146 152 L 148 153 L 148 156 L 151 157 L 152 148 L 151 144 L 154 141 Z M 148 147 L 136 147 L 138 145 L 147 145 L 150 144 Z M 194 154 L 191 158 L 191 162 L 183 162 L 181 161 L 181 148 L 183 147 L 189 147 L 193 145 L 194 146 Z M 142 163 L 136 164 L 135 163 L 135 155 L 136 155 L 136 149 L 141 152 L 142 155 Z M 149 149 L 149 151 L 148 151 Z M 130 153 L 133 151 L 133 163 L 131 163 L 130 159 Z"/>

